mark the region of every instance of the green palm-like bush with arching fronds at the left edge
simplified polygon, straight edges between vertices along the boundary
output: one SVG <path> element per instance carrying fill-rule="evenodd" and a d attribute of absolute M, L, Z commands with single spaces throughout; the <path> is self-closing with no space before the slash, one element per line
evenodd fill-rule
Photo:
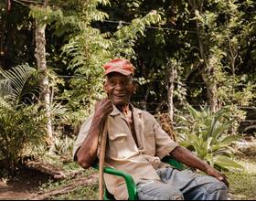
<path fill-rule="evenodd" d="M 35 69 L 20 65 L 0 73 L 0 157 L 12 170 L 25 149 L 44 142 L 46 115 L 29 99 L 35 92 L 29 87 Z"/>

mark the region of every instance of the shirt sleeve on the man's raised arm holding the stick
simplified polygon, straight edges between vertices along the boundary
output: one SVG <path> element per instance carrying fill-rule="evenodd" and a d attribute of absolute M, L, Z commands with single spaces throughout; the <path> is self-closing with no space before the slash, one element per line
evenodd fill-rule
<path fill-rule="evenodd" d="M 73 160 L 74 161 L 77 161 L 77 152 L 80 149 L 81 144 L 87 137 L 88 132 L 91 128 L 92 117 L 93 117 L 93 115 L 91 115 L 85 122 L 83 122 L 80 127 L 80 132 L 79 132 L 78 138 L 75 141 L 74 147 L 73 147 Z"/>

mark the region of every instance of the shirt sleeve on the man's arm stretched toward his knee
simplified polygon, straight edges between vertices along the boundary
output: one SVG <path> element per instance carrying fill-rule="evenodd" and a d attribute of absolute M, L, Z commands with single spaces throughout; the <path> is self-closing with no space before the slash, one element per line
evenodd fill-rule
<path fill-rule="evenodd" d="M 164 158 L 165 155 L 171 153 L 176 146 L 171 137 L 162 129 L 159 122 L 154 118 L 154 131 L 155 131 L 155 154 L 160 158 Z"/>

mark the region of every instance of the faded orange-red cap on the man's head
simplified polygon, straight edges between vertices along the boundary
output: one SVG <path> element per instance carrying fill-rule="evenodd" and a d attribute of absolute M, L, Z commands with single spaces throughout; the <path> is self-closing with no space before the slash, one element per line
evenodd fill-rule
<path fill-rule="evenodd" d="M 125 76 L 134 74 L 133 64 L 128 59 L 124 58 L 114 58 L 108 63 L 104 64 L 103 68 L 105 69 L 104 75 L 111 72 L 119 72 Z"/>

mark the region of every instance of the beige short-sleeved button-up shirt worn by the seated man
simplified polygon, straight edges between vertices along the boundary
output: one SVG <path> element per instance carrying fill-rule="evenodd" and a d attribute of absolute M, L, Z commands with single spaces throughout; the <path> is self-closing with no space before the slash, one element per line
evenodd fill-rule
<path fill-rule="evenodd" d="M 80 145 L 86 138 L 93 114 L 80 128 L 73 154 L 74 159 Z M 164 132 L 155 117 L 147 111 L 133 108 L 133 122 L 138 146 L 133 140 L 129 122 L 115 106 L 108 117 L 108 138 L 106 143 L 105 165 L 122 170 L 133 176 L 135 184 L 149 180 L 160 181 L 155 169 L 166 166 L 160 161 L 173 151 L 177 144 Z M 99 157 L 99 152 L 98 152 Z M 116 199 L 127 199 L 123 178 L 104 174 L 106 186 Z"/>

